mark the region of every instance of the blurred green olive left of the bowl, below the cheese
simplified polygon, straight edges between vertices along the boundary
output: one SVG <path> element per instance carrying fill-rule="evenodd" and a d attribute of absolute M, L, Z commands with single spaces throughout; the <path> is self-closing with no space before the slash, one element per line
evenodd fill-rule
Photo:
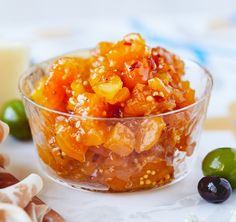
<path fill-rule="evenodd" d="M 26 117 L 24 105 L 21 100 L 15 99 L 5 103 L 0 110 L 0 119 L 10 127 L 10 134 L 19 140 L 32 138 Z"/>

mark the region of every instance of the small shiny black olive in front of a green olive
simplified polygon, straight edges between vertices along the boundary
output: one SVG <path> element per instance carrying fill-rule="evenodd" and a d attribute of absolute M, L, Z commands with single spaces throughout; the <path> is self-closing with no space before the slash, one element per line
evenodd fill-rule
<path fill-rule="evenodd" d="M 206 176 L 199 181 L 198 192 L 210 203 L 222 203 L 230 197 L 232 188 L 225 178 Z"/>

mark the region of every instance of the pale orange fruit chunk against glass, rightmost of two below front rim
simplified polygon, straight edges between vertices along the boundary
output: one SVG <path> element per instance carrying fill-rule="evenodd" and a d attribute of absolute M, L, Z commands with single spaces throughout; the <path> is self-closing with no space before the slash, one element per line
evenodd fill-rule
<path fill-rule="evenodd" d="M 166 124 L 162 117 L 144 120 L 136 134 L 136 152 L 141 153 L 151 149 L 158 142 L 165 126 Z"/>

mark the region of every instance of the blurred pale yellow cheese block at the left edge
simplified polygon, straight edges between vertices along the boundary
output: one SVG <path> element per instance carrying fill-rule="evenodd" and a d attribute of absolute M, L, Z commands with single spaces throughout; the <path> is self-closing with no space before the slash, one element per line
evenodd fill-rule
<path fill-rule="evenodd" d="M 29 66 L 29 50 L 20 43 L 0 40 L 0 106 L 19 98 L 18 80 Z"/>

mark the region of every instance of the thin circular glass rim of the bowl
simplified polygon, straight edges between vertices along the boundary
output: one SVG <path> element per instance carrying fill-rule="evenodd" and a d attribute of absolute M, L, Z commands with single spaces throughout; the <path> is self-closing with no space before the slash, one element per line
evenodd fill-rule
<path fill-rule="evenodd" d="M 56 56 L 56 57 L 53 57 L 53 58 L 50 58 L 50 59 L 47 59 L 47 60 L 44 60 L 40 63 L 37 63 L 36 65 L 33 65 L 31 66 L 29 69 L 27 69 L 19 78 L 19 82 L 18 82 L 18 89 L 20 91 L 20 94 L 22 96 L 23 99 L 25 99 L 26 101 L 28 101 L 29 103 L 31 103 L 32 105 L 38 107 L 39 109 L 43 109 L 43 110 L 46 110 L 48 112 L 52 112 L 52 113 L 55 113 L 57 115 L 62 115 L 62 116 L 67 116 L 67 117 L 73 117 L 73 118 L 79 118 L 79 119 L 83 119 L 83 120 L 87 120 L 87 119 L 90 119 L 90 120 L 106 120 L 106 121 L 111 121 L 111 120 L 115 120 L 115 121 L 121 121 L 121 120 L 131 120 L 131 119 L 138 119 L 138 120 L 142 120 L 142 119 L 151 119 L 151 118 L 155 118 L 155 117 L 163 117 L 163 116 L 168 116 L 168 115 L 173 115 L 173 114 L 176 114 L 176 113 L 180 113 L 180 112 L 183 112 L 183 111 L 186 111 L 188 109 L 191 109 L 195 106 L 197 106 L 198 104 L 204 102 L 205 100 L 207 100 L 210 95 L 211 95 L 211 92 L 212 92 L 212 87 L 213 87 L 213 77 L 211 75 L 211 73 L 205 68 L 203 67 L 200 63 L 192 60 L 192 59 L 188 59 L 188 58 L 183 58 L 181 57 L 181 59 L 184 61 L 184 62 L 190 62 L 194 65 L 197 65 L 200 69 L 202 69 L 204 75 L 206 75 L 207 77 L 207 83 L 206 83 L 206 86 L 205 86 L 205 90 L 204 92 L 202 93 L 202 96 L 196 100 L 194 103 L 188 105 L 188 106 L 185 106 L 183 108 L 180 108 L 180 109 L 176 109 L 176 110 L 171 110 L 171 111 L 168 111 L 168 112 L 165 112 L 165 113 L 158 113 L 158 114 L 151 114 L 151 115 L 146 115 L 146 116 L 128 116 L 128 117 L 95 117 L 95 116 L 81 116 L 81 115 L 78 115 L 78 114 L 70 114 L 70 113 L 66 113 L 66 112 L 62 112 L 62 111 L 58 111 L 58 110 L 54 110 L 54 109 L 50 109 L 48 107 L 45 107 L 43 105 L 40 105 L 36 102 L 34 102 L 32 99 L 30 99 L 25 93 L 24 93 L 24 90 L 22 89 L 22 82 L 23 80 L 28 76 L 30 75 L 36 68 L 38 67 L 42 67 L 43 65 L 45 64 L 49 64 L 50 62 L 60 58 L 60 57 L 63 57 L 63 56 L 72 56 L 72 57 L 75 57 L 75 54 L 76 53 L 80 53 L 80 52 L 86 52 L 86 51 L 91 51 L 91 49 L 79 49 L 79 50 L 73 50 L 73 51 L 70 51 L 68 53 L 64 53 L 62 55 L 59 55 L 59 56 Z M 78 55 L 79 56 L 79 55 Z"/>

